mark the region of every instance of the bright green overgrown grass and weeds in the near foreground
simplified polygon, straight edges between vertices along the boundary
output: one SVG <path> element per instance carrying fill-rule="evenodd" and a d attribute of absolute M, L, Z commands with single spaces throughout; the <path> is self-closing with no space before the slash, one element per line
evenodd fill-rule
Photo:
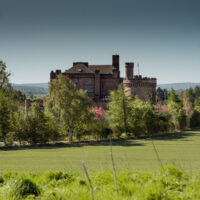
<path fill-rule="evenodd" d="M 5 177 L 7 173 L 4 173 Z M 0 187 L 0 198 L 4 200 L 90 199 L 90 187 L 85 175 L 72 173 L 71 177 L 73 178 L 68 181 L 69 177 L 63 177 L 63 172 L 56 172 L 56 177 L 53 176 L 51 179 L 46 173 L 41 172 L 34 175 L 19 173 L 17 177 L 13 173 L 12 177 L 5 179 L 5 184 Z M 199 174 L 189 175 L 173 166 L 164 167 L 156 172 L 118 171 L 118 194 L 115 192 L 112 171 L 103 170 L 90 174 L 90 177 L 96 200 L 192 200 L 200 197 Z"/>

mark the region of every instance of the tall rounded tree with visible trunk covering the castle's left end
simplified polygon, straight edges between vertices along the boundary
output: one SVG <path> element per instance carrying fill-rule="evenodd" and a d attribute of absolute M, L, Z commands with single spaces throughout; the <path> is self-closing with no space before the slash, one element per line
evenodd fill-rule
<path fill-rule="evenodd" d="M 59 75 L 50 83 L 49 111 L 58 119 L 69 141 L 72 141 L 75 127 L 89 123 L 90 105 L 87 93 L 76 90 L 68 77 Z"/>

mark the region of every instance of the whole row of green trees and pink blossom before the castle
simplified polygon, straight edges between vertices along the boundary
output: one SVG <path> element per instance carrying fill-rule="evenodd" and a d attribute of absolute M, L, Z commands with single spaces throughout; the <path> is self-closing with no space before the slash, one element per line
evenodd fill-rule
<path fill-rule="evenodd" d="M 2 63 L 4 64 L 4 63 Z M 5 66 L 5 64 L 4 64 Z M 6 67 L 0 76 L 0 136 L 5 144 L 37 144 L 74 139 L 144 136 L 200 126 L 200 87 L 177 93 L 158 88 L 157 103 L 134 99 L 123 85 L 110 93 L 107 110 L 93 107 L 87 93 L 60 75 L 51 82 L 44 112 L 24 109 L 25 96 L 10 87 Z"/>

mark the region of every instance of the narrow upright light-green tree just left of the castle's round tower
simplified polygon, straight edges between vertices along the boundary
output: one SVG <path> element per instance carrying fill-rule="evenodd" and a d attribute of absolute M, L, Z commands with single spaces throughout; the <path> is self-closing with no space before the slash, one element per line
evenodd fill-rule
<path fill-rule="evenodd" d="M 111 93 L 111 101 L 108 104 L 107 114 L 110 119 L 111 128 L 120 136 L 123 132 L 129 132 L 130 101 L 131 97 L 124 92 L 123 85 Z"/>

